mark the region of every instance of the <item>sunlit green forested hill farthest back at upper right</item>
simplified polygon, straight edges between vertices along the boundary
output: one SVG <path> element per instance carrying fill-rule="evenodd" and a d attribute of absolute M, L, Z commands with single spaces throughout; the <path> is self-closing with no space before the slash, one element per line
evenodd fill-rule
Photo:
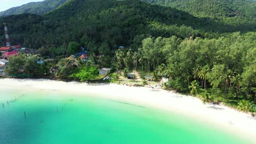
<path fill-rule="evenodd" d="M 187 11 L 200 17 L 256 18 L 256 1 L 253 0 L 142 0 L 151 4 Z"/>

